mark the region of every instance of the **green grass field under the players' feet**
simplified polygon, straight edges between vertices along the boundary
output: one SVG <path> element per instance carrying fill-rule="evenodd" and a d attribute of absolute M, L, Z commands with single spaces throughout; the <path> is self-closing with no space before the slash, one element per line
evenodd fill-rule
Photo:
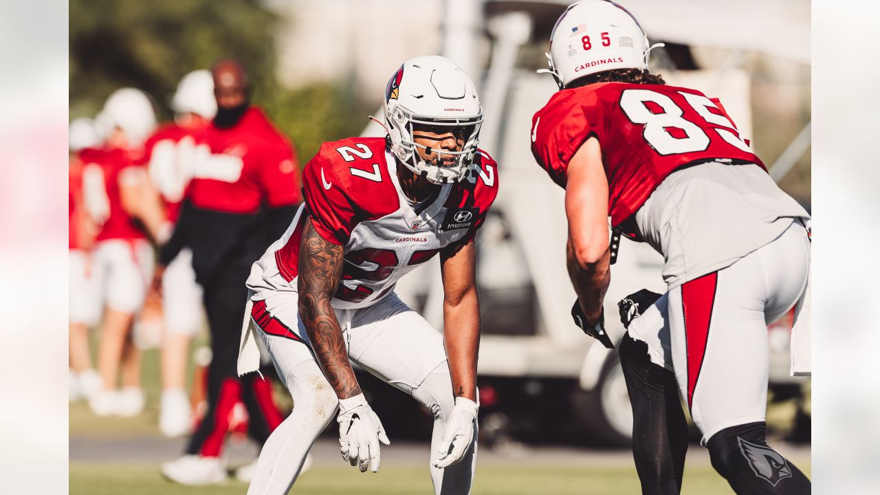
<path fill-rule="evenodd" d="M 138 417 L 95 417 L 86 404 L 70 404 L 71 437 L 119 439 L 123 443 L 158 437 L 159 385 L 156 351 L 147 351 L 143 355 L 143 388 L 148 395 L 147 409 Z M 279 390 L 278 395 L 290 400 L 282 390 Z M 791 416 L 788 410 L 768 412 L 774 413 L 768 416 L 779 416 L 780 421 L 788 420 Z M 688 456 L 682 493 L 732 493 L 727 483 L 709 465 L 708 456 L 704 452 L 702 456 L 697 454 L 700 450 L 703 449 L 696 445 L 691 446 L 690 452 L 694 454 L 689 453 Z M 560 457 L 560 463 L 547 462 L 546 459 L 530 463 L 522 457 L 510 462 L 497 459 L 493 461 L 487 455 L 489 452 L 485 451 L 484 462 L 477 467 L 473 495 L 618 495 L 641 492 L 632 459 L 628 455 L 617 461 L 606 460 L 601 455 L 601 462 L 598 463 L 572 460 L 564 456 Z M 158 461 L 135 461 L 128 459 L 123 451 L 120 452 L 120 457 L 113 457 L 109 462 L 77 459 L 76 452 L 70 454 L 70 493 L 75 495 L 240 495 L 247 490 L 246 484 L 233 480 L 224 485 L 209 487 L 172 484 L 159 475 Z M 165 460 L 171 459 L 172 455 L 169 455 Z M 796 457 L 792 461 L 810 476 L 809 457 Z M 316 462 L 315 467 L 297 480 L 297 486 L 292 491 L 303 495 L 408 495 L 432 492 L 427 466 L 418 465 L 414 459 L 408 458 L 383 462 L 382 471 L 378 474 L 362 474 L 341 460 L 338 465 L 329 461 Z"/>

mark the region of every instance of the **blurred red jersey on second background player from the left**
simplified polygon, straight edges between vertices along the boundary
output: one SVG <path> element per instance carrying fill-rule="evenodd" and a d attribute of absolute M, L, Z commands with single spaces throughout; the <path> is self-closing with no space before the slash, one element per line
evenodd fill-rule
<path fill-rule="evenodd" d="M 95 240 L 146 239 L 147 234 L 135 218 L 122 209 L 120 178 L 128 169 L 140 169 L 129 151 L 121 148 L 96 151 L 84 156 L 84 175 L 101 174 L 103 181 L 84 181 L 83 195 L 86 211 L 92 220 L 101 225 Z M 103 186 L 103 188 L 101 188 Z M 93 205 L 106 205 L 106 211 L 96 211 Z M 91 210 L 90 210 L 91 209 Z"/>

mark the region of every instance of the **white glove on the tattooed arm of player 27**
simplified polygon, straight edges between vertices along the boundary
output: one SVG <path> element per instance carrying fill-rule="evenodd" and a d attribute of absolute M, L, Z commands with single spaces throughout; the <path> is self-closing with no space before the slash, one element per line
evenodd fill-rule
<path fill-rule="evenodd" d="M 362 473 L 368 466 L 374 473 L 378 472 L 379 441 L 385 445 L 391 445 L 391 442 L 363 394 L 340 399 L 336 421 L 339 422 L 342 459 L 351 462 L 352 466 L 359 464 Z"/>

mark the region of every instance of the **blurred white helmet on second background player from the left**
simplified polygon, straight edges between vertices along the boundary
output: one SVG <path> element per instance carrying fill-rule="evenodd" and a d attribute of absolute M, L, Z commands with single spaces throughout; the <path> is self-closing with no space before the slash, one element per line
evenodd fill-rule
<path fill-rule="evenodd" d="M 106 100 L 97 121 L 104 136 L 109 136 L 118 127 L 125 131 L 128 145 L 136 147 L 143 144 L 156 128 L 156 112 L 145 92 L 135 88 L 121 88 Z"/>

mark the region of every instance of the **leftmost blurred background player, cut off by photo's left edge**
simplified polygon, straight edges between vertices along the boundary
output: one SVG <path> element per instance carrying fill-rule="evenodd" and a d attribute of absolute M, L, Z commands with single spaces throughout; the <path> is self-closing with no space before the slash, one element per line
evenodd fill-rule
<path fill-rule="evenodd" d="M 70 122 L 70 236 L 69 285 L 70 296 L 70 401 L 88 400 L 101 388 L 101 379 L 92 366 L 89 351 L 89 329 L 98 324 L 100 317 L 99 294 L 92 266 L 92 247 L 98 225 L 86 213 L 83 203 L 83 169 L 99 153 L 101 137 L 95 122 L 80 117 Z M 90 180 L 100 177 L 92 177 Z"/>

